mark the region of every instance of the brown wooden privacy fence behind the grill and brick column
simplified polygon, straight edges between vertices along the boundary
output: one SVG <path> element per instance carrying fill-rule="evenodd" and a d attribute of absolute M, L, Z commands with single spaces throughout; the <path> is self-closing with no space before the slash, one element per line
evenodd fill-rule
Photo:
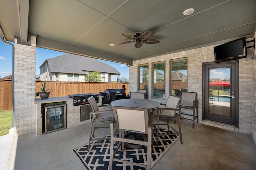
<path fill-rule="evenodd" d="M 36 81 L 36 92 L 40 92 L 38 86 L 41 82 Z M 120 89 L 125 85 L 125 92 L 129 92 L 129 83 L 106 83 L 106 82 L 46 82 L 46 89 L 53 90 L 50 98 L 68 96 L 68 94 L 83 94 L 103 92 L 106 89 Z M 0 111 L 12 110 L 12 80 L 0 80 Z M 40 97 L 37 97 L 40 98 Z"/>

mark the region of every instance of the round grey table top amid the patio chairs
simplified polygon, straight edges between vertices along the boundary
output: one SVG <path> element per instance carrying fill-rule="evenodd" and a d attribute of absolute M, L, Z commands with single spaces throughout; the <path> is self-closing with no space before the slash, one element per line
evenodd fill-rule
<path fill-rule="evenodd" d="M 160 106 L 160 103 L 154 100 L 147 100 L 147 99 L 120 99 L 120 100 L 115 100 L 111 102 L 111 106 L 154 109 Z"/>

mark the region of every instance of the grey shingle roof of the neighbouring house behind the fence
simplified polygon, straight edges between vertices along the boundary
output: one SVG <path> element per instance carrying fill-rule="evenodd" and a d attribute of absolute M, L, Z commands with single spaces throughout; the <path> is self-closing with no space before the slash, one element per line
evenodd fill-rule
<path fill-rule="evenodd" d="M 84 71 L 98 71 L 111 74 L 121 74 L 116 68 L 105 64 L 98 59 L 74 54 L 64 54 L 46 60 L 50 72 L 70 74 L 85 74 Z"/>

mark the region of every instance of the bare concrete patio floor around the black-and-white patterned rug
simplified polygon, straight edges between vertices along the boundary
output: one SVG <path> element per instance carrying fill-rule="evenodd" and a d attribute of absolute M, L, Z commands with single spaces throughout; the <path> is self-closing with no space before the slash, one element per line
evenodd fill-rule
<path fill-rule="evenodd" d="M 198 123 L 192 129 L 192 121 L 185 119 L 181 127 L 183 145 L 178 140 L 152 170 L 256 169 L 256 146 L 251 135 Z M 89 133 L 90 124 L 86 123 L 40 136 L 15 137 L 7 169 L 84 170 L 73 149 L 88 143 Z M 99 137 L 108 133 L 110 129 L 96 131 Z"/>

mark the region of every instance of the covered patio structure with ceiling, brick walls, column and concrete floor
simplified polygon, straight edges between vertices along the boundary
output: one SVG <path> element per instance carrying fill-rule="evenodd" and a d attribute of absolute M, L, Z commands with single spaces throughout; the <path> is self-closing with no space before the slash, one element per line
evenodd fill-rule
<path fill-rule="evenodd" d="M 174 143 L 153 169 L 256 169 L 255 43 L 254 48 L 248 49 L 250 59 L 238 61 L 239 127 L 202 119 L 202 63 L 214 63 L 216 45 L 239 37 L 255 39 L 256 2 L 196 2 L 1 0 L 0 37 L 15 44 L 12 48 L 15 134 L 7 168 L 85 169 L 73 149 L 88 143 L 88 123 L 36 136 L 36 117 L 40 114 L 35 115 L 35 58 L 36 47 L 42 47 L 129 65 L 131 92 L 138 91 L 141 64 L 148 64 L 152 70 L 154 63 L 164 62 L 166 98 L 171 92 L 170 61 L 187 58 L 188 91 L 198 93 L 200 120 L 192 129 L 191 121 L 182 119 L 183 145 Z M 189 8 L 195 8 L 194 14 L 183 15 Z M 150 30 L 156 32 L 153 38 L 160 43 L 137 48 L 134 39 L 121 35 Z M 128 40 L 132 43 L 118 45 Z M 166 98 L 153 96 L 151 70 L 148 98 L 164 102 Z M 105 129 L 98 135 L 108 133 Z"/>

